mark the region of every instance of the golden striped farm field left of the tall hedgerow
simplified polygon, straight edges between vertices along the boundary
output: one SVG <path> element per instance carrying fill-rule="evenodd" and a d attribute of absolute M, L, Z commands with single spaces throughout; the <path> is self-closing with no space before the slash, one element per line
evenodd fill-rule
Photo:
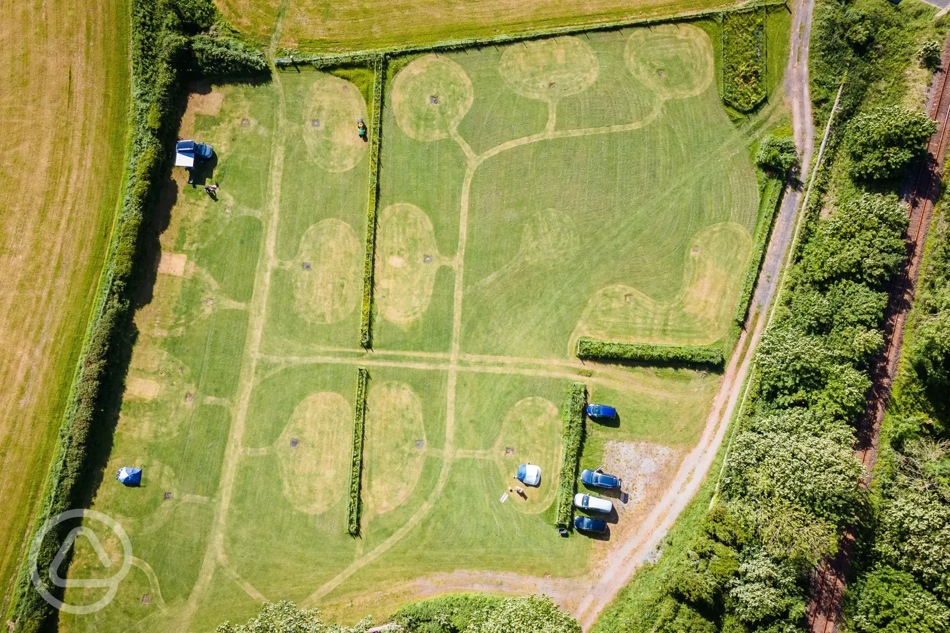
<path fill-rule="evenodd" d="M 47 476 L 115 217 L 127 13 L 112 0 L 0 9 L 0 612 Z"/>

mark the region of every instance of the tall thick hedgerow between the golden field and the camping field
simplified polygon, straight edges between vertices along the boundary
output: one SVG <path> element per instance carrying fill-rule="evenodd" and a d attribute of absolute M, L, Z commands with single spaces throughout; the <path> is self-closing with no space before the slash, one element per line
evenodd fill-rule
<path fill-rule="evenodd" d="M 114 401 L 122 392 L 131 340 L 132 294 L 141 264 L 140 233 L 157 202 L 167 169 L 165 158 L 174 140 L 183 80 L 266 72 L 259 52 L 211 34 L 219 19 L 211 0 L 132 2 L 132 101 L 122 204 L 34 531 L 60 512 L 88 503 L 89 481 L 96 476 L 90 453 L 111 433 Z M 71 527 L 62 523 L 47 533 L 36 557 L 38 568 L 49 567 Z M 16 633 L 42 630 L 56 616 L 31 586 L 30 574 L 25 558 L 10 605 Z M 62 590 L 49 585 L 48 578 L 41 574 L 41 579 L 53 595 L 61 595 Z"/>

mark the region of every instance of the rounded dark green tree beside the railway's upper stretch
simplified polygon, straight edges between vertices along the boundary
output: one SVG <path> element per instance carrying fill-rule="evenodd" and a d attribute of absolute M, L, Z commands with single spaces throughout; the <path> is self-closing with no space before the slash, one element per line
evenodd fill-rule
<path fill-rule="evenodd" d="M 852 177 L 883 180 L 899 177 L 925 156 L 927 139 L 937 130 L 920 110 L 880 107 L 859 115 L 848 126 L 845 142 Z"/>

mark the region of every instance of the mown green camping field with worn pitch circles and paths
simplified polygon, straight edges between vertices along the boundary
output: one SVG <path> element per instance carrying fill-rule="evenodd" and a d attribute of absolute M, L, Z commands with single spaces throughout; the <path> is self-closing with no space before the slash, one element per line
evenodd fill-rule
<path fill-rule="evenodd" d="M 719 377 L 584 364 L 573 342 L 722 341 L 750 259 L 750 140 L 714 67 L 688 24 L 392 62 L 371 351 L 356 344 L 359 87 L 303 71 L 194 94 L 181 134 L 215 146 L 221 189 L 212 201 L 180 179 L 168 200 L 109 463 L 145 478 L 106 480 L 95 502 L 135 560 L 111 605 L 64 629 L 211 630 L 265 598 L 353 620 L 419 577 L 438 590 L 458 569 L 568 583 L 596 569 L 696 442 Z M 357 366 L 370 382 L 352 538 Z M 619 411 L 588 423 L 581 457 L 627 481 L 606 540 L 553 525 L 575 381 Z M 500 503 L 524 461 L 542 485 Z M 98 566 L 78 543 L 70 573 Z"/>

